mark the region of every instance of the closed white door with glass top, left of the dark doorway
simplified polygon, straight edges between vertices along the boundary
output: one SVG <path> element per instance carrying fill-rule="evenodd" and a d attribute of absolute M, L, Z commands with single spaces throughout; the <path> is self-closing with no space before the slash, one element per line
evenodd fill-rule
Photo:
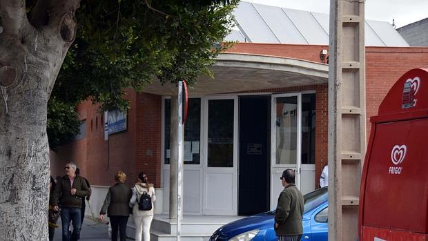
<path fill-rule="evenodd" d="M 237 215 L 237 97 L 206 97 L 203 123 L 203 214 Z"/>

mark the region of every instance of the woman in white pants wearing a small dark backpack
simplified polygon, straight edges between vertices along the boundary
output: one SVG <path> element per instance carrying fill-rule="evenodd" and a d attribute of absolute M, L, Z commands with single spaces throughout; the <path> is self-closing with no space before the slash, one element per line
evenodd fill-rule
<path fill-rule="evenodd" d="M 138 209 L 138 200 L 146 192 L 152 198 L 152 209 L 142 211 Z M 155 188 L 148 183 L 147 175 L 139 173 L 138 180 L 133 187 L 133 196 L 130 198 L 129 206 L 133 209 L 133 219 L 135 224 L 135 241 L 150 241 L 150 225 L 153 220 L 153 202 L 156 200 Z"/>

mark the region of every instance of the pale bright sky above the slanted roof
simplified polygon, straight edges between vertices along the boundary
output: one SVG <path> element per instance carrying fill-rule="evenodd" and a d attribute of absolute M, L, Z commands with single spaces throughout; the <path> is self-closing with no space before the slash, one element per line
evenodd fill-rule
<path fill-rule="evenodd" d="M 329 13 L 330 0 L 242 0 L 310 12 Z M 428 0 L 367 0 L 366 19 L 387 21 L 400 28 L 428 17 Z"/>

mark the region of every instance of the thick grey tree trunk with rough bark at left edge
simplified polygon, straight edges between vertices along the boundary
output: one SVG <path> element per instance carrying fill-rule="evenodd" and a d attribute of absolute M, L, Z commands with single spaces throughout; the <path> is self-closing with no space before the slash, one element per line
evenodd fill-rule
<path fill-rule="evenodd" d="M 79 1 L 70 2 L 75 10 Z M 48 240 L 46 115 L 75 35 L 75 11 L 67 6 L 62 18 L 35 28 L 25 1 L 0 0 L 0 240 Z"/>

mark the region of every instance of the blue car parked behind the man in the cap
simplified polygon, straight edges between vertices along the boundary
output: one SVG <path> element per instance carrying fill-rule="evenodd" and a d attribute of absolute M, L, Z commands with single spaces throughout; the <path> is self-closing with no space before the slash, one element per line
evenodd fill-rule
<path fill-rule="evenodd" d="M 302 241 L 327 241 L 328 213 L 327 187 L 304 195 Z M 274 217 L 275 211 L 269 211 L 225 224 L 211 235 L 210 241 L 276 241 Z"/>

